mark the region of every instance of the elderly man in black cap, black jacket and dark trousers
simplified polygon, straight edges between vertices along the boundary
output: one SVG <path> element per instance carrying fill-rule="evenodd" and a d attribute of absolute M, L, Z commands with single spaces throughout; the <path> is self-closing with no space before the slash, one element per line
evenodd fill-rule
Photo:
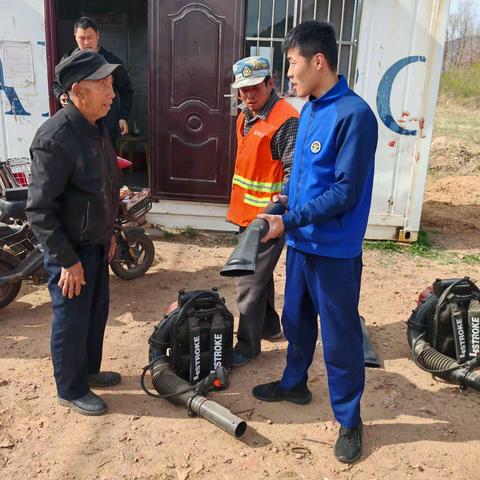
<path fill-rule="evenodd" d="M 90 387 L 121 379 L 118 373 L 100 372 L 120 183 L 100 119 L 115 97 L 112 75 L 120 68 L 93 50 L 61 62 L 56 73 L 70 103 L 39 128 L 30 149 L 27 218 L 45 249 L 58 401 L 85 415 L 107 411 Z"/>

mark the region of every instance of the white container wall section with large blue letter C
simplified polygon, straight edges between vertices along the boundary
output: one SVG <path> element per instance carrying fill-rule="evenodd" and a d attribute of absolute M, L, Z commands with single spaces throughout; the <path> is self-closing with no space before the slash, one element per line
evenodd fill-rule
<path fill-rule="evenodd" d="M 417 239 L 449 6 L 362 2 L 355 91 L 379 122 L 367 238 Z"/>

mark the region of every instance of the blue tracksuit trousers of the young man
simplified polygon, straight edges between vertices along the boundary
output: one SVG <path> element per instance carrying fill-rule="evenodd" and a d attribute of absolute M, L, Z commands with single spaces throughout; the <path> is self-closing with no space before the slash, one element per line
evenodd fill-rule
<path fill-rule="evenodd" d="M 290 389 L 306 384 L 320 315 L 330 404 L 341 425 L 356 427 L 365 385 L 358 314 L 362 256 L 329 258 L 289 247 L 286 276 L 282 323 L 288 350 L 280 385 Z"/>

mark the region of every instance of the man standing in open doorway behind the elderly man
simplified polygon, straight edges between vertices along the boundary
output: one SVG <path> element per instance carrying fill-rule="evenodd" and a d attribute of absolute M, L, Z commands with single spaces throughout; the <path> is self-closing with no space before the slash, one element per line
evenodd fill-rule
<path fill-rule="evenodd" d="M 122 61 L 115 54 L 100 46 L 100 31 L 91 18 L 79 18 L 73 26 L 73 34 L 78 47 L 66 53 L 61 61 L 79 50 L 90 49 L 98 52 L 108 63 L 123 65 Z M 117 98 L 108 112 L 106 124 L 110 132 L 112 144 L 115 147 L 119 134 L 126 135 L 128 133 L 128 118 L 133 105 L 132 83 L 125 68 L 118 69 L 113 73 L 113 89 Z M 58 81 L 58 76 L 55 76 L 53 93 L 62 106 L 68 103 L 68 92 L 62 88 Z"/>

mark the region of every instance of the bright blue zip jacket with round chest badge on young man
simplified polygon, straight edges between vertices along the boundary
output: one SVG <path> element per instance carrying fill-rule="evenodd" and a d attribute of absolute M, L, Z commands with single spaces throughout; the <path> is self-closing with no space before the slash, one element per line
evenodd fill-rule
<path fill-rule="evenodd" d="M 287 245 L 355 258 L 362 252 L 372 197 L 378 126 L 343 76 L 300 115 L 292 173 L 283 193 Z"/>

